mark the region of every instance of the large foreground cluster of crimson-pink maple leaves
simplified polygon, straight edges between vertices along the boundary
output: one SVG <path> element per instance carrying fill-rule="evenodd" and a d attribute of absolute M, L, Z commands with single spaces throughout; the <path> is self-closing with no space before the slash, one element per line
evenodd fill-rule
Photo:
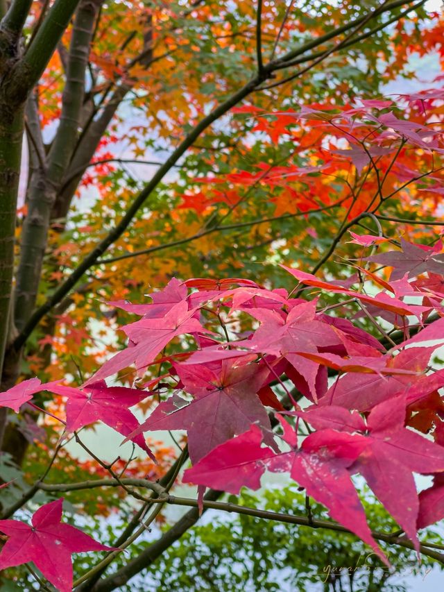
<path fill-rule="evenodd" d="M 352 238 L 366 248 L 386 246 L 372 235 Z M 418 550 L 418 528 L 444 516 L 444 369 L 431 362 L 444 335 L 442 251 L 439 240 L 425 246 L 402 239 L 397 250 L 361 257 L 358 289 L 284 266 L 298 280 L 296 294 L 241 278 L 173 278 L 151 303 L 110 303 L 140 318 L 121 328 L 128 346 L 83 386 L 32 378 L 1 394 L 0 405 L 18 412 L 49 391 L 66 400 L 65 436 L 103 421 L 152 459 L 144 433 L 186 430 L 193 466 L 184 482 L 236 494 L 258 489 L 265 471 L 289 473 L 386 561 L 352 482 L 359 474 Z M 372 264 L 391 270 L 388 280 Z M 327 292 L 345 300 L 322 307 Z M 346 318 L 352 306 L 353 322 Z M 380 339 L 360 326 L 363 312 Z M 402 328 L 397 341 L 381 323 Z M 165 354 L 171 343 L 176 353 Z M 135 366 L 137 384 L 159 363 L 167 373 L 141 388 L 105 382 Z M 154 394 L 163 400 L 140 424 L 130 407 Z M 413 473 L 434 475 L 419 496 Z M 13 537 L 17 524 L 25 528 L 3 521 L 0 530 Z M 3 566 L 16 544 L 10 540 Z M 56 582 L 51 569 L 46 575 Z"/>

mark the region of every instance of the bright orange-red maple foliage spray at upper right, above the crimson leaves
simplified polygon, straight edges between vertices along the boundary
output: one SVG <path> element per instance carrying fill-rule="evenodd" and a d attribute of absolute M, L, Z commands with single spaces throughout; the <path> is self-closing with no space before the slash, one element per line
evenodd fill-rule
<path fill-rule="evenodd" d="M 443 192 L 443 97 L 442 88 L 432 88 L 395 100 L 312 103 L 298 110 L 233 108 L 237 117 L 255 121 L 252 133 L 265 133 L 272 146 L 281 140 L 291 155 L 285 164 L 257 162 L 253 172 L 195 178 L 199 191 L 185 194 L 181 207 L 202 213 L 222 201 L 233 208 L 246 201 L 244 189 L 259 186 L 269 189 L 275 216 L 340 206 L 353 219 L 394 196 L 410 210 L 412 192 L 424 192 L 416 205 L 418 214 L 427 215 Z M 331 194 L 326 183 L 334 184 Z"/>

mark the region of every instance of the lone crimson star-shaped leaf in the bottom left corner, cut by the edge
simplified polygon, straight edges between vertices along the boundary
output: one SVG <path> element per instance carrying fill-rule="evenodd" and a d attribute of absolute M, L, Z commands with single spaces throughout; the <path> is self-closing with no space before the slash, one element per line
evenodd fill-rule
<path fill-rule="evenodd" d="M 17 520 L 0 521 L 0 531 L 9 537 L 0 552 L 1 570 L 33 561 L 56 589 L 71 592 L 72 553 L 112 550 L 78 528 L 60 522 L 62 502 L 60 498 L 37 509 L 32 527 Z"/>

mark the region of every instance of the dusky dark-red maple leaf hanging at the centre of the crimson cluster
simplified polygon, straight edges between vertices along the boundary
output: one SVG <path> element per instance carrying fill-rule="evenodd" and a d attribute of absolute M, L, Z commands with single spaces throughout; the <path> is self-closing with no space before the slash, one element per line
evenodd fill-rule
<path fill-rule="evenodd" d="M 176 372 L 183 389 L 194 399 L 187 404 L 181 397 L 170 397 L 130 437 L 155 430 L 187 430 L 189 456 L 196 462 L 252 423 L 270 430 L 270 420 L 257 396 L 268 369 L 241 360 L 237 365 L 224 360 L 218 366 L 178 364 Z"/>

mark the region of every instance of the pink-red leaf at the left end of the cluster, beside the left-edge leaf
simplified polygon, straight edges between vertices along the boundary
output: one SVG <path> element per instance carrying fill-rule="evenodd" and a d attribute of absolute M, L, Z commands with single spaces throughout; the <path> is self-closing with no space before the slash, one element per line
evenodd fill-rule
<path fill-rule="evenodd" d="M 43 384 L 42 387 L 52 393 L 68 398 L 66 406 L 68 432 L 80 430 L 83 426 L 96 421 L 103 421 L 103 423 L 106 423 L 110 428 L 125 437 L 129 436 L 139 426 L 139 422 L 128 407 L 137 405 L 150 395 L 148 391 L 138 391 L 137 389 L 127 389 L 125 387 L 108 387 L 104 381 L 94 382 L 83 389 L 65 387 L 62 384 L 53 387 Z M 142 434 L 131 438 L 131 441 L 140 446 L 142 450 L 145 450 L 155 461 L 155 455 L 146 446 Z"/>

